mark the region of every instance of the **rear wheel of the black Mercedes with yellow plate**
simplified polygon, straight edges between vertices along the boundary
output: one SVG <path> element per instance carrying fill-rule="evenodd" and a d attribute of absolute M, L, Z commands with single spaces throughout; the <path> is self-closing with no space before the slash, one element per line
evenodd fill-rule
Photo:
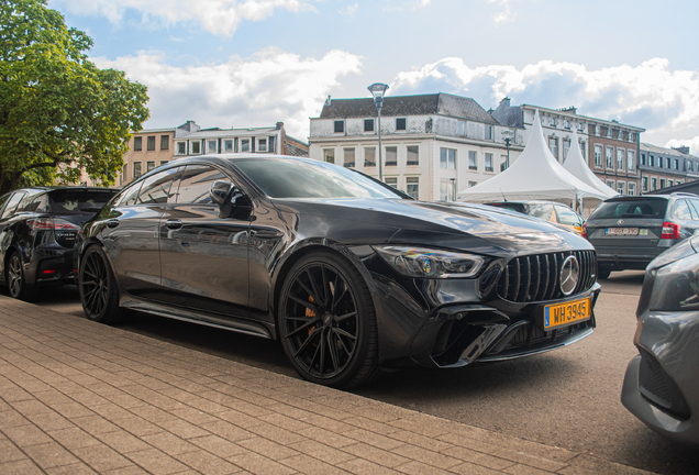
<path fill-rule="evenodd" d="M 116 279 L 104 251 L 98 245 L 87 248 L 80 259 L 78 289 L 85 316 L 92 321 L 113 324 L 126 317 L 126 309 L 119 307 Z"/>

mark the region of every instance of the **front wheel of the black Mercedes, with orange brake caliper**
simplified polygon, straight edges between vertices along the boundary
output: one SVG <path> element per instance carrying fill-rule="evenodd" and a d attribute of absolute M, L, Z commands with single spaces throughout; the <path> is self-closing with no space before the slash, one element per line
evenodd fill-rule
<path fill-rule="evenodd" d="M 291 267 L 279 297 L 279 336 L 299 375 L 350 388 L 378 374 L 376 312 L 362 275 L 320 251 Z"/>

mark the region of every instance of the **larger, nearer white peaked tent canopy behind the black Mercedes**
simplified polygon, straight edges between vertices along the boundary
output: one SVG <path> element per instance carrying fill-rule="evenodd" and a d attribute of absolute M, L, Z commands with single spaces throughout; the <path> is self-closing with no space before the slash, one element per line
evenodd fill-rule
<path fill-rule="evenodd" d="M 578 198 L 607 199 L 608 196 L 587 185 L 566 170 L 553 156 L 541 129 L 539 111 L 534 115 L 534 124 L 529 143 L 519 158 L 504 172 L 462 190 L 458 201 L 502 201 L 508 200 L 570 200 Z"/>

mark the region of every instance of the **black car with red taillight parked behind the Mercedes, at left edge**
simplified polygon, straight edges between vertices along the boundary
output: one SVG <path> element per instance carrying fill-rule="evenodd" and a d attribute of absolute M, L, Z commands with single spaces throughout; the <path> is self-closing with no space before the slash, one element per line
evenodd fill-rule
<path fill-rule="evenodd" d="M 38 287 L 73 284 L 76 233 L 116 192 L 36 187 L 0 197 L 0 278 L 10 296 L 31 300 Z"/>

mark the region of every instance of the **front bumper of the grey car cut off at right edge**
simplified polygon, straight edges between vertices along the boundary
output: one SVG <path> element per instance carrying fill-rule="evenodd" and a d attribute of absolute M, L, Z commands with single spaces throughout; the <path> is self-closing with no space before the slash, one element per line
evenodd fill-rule
<path fill-rule="evenodd" d="M 654 431 L 699 444 L 699 312 L 645 311 L 634 343 L 640 355 L 626 368 L 621 402 Z"/>

